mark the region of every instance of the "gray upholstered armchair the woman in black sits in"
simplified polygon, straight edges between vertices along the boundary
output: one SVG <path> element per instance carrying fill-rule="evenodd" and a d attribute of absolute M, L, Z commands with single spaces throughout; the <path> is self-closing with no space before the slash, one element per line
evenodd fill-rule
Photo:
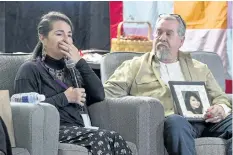
<path fill-rule="evenodd" d="M 30 54 L 0 54 L 0 89 L 7 89 L 10 95 L 13 94 L 13 83 L 18 68 L 30 56 Z M 134 99 L 130 98 L 106 99 L 91 105 L 88 109 L 92 124 L 118 131 L 126 137 L 134 155 L 149 155 L 151 154 L 149 152 L 154 150 L 161 152 L 163 147 L 150 139 L 150 133 L 162 134 L 163 117 L 161 120 L 151 120 L 152 123 L 148 121 L 150 118 L 164 115 L 163 107 L 155 99 L 145 97 L 140 100 L 141 102 L 135 103 Z M 16 139 L 14 155 L 88 155 L 87 149 L 82 146 L 58 142 L 59 114 L 54 106 L 48 103 L 11 103 L 11 107 Z M 157 114 L 148 113 L 150 109 L 161 110 Z M 154 126 L 158 130 L 152 132 Z"/>

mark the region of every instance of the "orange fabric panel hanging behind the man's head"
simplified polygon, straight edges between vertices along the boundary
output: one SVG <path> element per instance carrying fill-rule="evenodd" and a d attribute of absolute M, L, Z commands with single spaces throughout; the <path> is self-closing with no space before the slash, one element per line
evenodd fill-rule
<path fill-rule="evenodd" d="M 174 2 L 174 13 L 186 21 L 188 29 L 226 29 L 227 2 Z"/>

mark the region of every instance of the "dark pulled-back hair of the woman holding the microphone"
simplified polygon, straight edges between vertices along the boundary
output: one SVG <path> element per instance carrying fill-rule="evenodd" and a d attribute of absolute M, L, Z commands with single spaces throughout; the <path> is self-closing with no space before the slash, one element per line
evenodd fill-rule
<path fill-rule="evenodd" d="M 74 30 L 71 20 L 63 13 L 51 11 L 41 17 L 41 20 L 37 26 L 38 35 L 48 36 L 49 31 L 52 30 L 52 24 L 56 21 L 64 21 L 70 25 L 71 31 Z M 33 50 L 32 58 L 36 59 L 38 56 L 42 57 L 43 45 L 39 41 Z"/>

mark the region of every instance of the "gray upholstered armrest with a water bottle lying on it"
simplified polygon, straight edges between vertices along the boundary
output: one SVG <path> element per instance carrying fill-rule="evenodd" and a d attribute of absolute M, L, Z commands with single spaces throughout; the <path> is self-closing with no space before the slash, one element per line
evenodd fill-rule
<path fill-rule="evenodd" d="M 48 103 L 11 102 L 16 147 L 30 155 L 57 155 L 59 114 Z"/>

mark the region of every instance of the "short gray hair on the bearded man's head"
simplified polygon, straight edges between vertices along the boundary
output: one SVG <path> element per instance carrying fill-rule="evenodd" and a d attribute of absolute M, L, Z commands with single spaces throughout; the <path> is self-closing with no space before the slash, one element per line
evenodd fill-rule
<path fill-rule="evenodd" d="M 178 21 L 178 23 L 179 23 L 178 35 L 179 35 L 180 37 L 184 37 L 184 36 L 185 36 L 186 25 L 185 25 L 185 23 L 183 23 L 181 17 L 178 17 L 178 15 L 177 15 L 177 17 L 176 17 L 176 16 L 170 15 L 170 14 L 162 15 L 162 16 L 160 16 L 160 17 L 157 19 L 157 21 L 156 21 L 156 25 L 155 25 L 156 28 L 157 28 L 157 24 L 158 24 L 159 21 L 162 20 L 162 19 L 164 19 L 164 20 L 176 20 L 176 21 Z"/>

